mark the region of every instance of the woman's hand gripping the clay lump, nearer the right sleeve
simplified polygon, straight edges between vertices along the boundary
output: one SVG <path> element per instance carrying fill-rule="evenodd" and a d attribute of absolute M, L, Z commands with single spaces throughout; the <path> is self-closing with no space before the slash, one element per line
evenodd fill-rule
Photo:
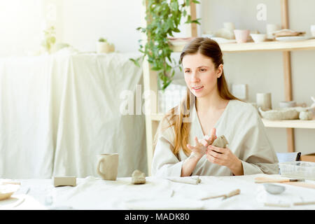
<path fill-rule="evenodd" d="M 230 148 L 208 146 L 207 160 L 209 160 L 209 162 L 228 167 L 235 175 L 244 174 L 241 160 L 239 160 L 239 158 L 230 151 Z"/>

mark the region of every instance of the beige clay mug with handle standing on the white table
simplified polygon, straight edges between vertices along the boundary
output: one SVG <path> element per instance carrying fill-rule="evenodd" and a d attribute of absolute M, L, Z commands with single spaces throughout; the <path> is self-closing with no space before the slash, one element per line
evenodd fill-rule
<path fill-rule="evenodd" d="M 118 153 L 98 155 L 97 174 L 104 180 L 116 181 L 118 174 Z"/>

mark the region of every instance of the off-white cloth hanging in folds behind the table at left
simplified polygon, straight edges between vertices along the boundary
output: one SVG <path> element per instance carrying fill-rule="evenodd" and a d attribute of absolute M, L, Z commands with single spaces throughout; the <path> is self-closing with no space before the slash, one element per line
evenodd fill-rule
<path fill-rule="evenodd" d="M 119 153 L 118 176 L 147 172 L 144 116 L 120 113 L 135 92 L 138 54 L 0 59 L 0 177 L 95 176 L 97 155 Z"/>

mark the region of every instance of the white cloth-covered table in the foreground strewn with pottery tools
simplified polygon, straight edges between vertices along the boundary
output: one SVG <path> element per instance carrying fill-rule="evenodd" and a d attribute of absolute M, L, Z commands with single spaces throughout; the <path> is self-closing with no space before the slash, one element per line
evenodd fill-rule
<path fill-rule="evenodd" d="M 286 190 L 281 195 L 270 195 L 262 183 L 254 183 L 255 174 L 248 176 L 200 176 L 197 185 L 176 183 L 157 177 L 146 177 L 146 183 L 133 185 L 130 177 L 117 181 L 104 181 L 88 176 L 77 179 L 75 187 L 53 187 L 52 179 L 22 179 L 19 191 L 12 197 L 25 197 L 25 202 L 17 207 L 5 209 L 315 209 L 315 204 L 294 206 L 294 202 L 314 202 L 315 189 L 283 184 Z M 279 175 L 268 175 L 279 178 Z M 315 181 L 306 181 L 315 183 Z M 279 183 L 276 183 L 279 184 Z M 239 195 L 222 200 L 200 200 L 202 197 L 221 195 L 239 189 Z M 16 202 L 17 199 L 15 198 Z M 0 201 L 1 202 L 1 201 Z M 52 204 L 48 203 L 52 202 Z M 288 207 L 269 207 L 271 204 Z M 2 204 L 1 204 L 2 203 Z M 0 209 L 3 201 L 0 203 Z"/>

